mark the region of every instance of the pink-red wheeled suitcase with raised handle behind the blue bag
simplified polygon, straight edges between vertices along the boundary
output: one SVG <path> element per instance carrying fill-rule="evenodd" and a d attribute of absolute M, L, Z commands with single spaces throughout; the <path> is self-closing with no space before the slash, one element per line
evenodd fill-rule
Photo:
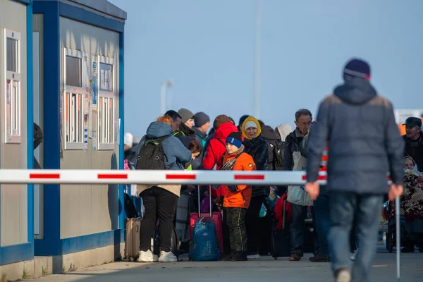
<path fill-rule="evenodd" d="M 200 185 L 198 185 L 198 213 L 192 212 L 190 214 L 190 239 L 192 240 L 192 231 L 194 230 L 194 225 L 203 217 L 207 217 L 209 221 L 212 221 L 214 228 L 216 228 L 216 238 L 219 245 L 219 250 L 223 254 L 223 233 L 222 233 L 222 214 L 221 212 L 212 212 L 212 197 L 210 199 L 210 212 L 202 213 L 200 212 Z M 209 185 L 209 195 L 212 195 L 212 185 Z"/>

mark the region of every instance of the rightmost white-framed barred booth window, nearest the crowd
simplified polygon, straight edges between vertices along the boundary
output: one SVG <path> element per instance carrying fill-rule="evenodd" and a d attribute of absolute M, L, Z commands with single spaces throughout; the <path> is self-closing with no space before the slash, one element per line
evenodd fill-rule
<path fill-rule="evenodd" d="M 98 149 L 113 150 L 115 134 L 114 61 L 99 56 Z"/>

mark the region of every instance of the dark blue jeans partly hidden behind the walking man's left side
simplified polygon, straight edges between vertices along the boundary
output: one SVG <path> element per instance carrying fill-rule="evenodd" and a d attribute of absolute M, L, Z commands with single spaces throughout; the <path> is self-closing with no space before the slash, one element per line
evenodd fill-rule
<path fill-rule="evenodd" d="M 331 228 L 329 196 L 319 195 L 314 201 L 317 237 L 319 238 L 320 255 L 329 256 L 329 229 Z"/>

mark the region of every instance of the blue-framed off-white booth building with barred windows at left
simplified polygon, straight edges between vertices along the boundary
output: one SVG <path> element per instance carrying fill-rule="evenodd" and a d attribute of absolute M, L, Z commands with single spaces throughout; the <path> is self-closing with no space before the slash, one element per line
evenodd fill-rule
<path fill-rule="evenodd" d="M 0 0 L 0 7 L 7 59 L 0 60 L 7 113 L 0 168 L 32 168 L 35 156 L 46 169 L 123 169 L 125 11 L 106 0 Z M 35 151 L 32 123 L 44 134 Z M 0 189 L 0 273 L 32 261 L 26 265 L 36 273 L 37 259 L 59 273 L 123 254 L 119 185 Z"/>

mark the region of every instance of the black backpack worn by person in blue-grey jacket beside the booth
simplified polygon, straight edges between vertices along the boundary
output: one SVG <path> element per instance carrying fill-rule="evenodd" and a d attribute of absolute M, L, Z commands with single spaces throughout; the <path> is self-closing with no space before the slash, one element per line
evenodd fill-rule
<path fill-rule="evenodd" d="M 163 150 L 163 141 L 169 136 L 147 139 L 140 149 L 135 169 L 167 169 L 167 157 Z"/>

